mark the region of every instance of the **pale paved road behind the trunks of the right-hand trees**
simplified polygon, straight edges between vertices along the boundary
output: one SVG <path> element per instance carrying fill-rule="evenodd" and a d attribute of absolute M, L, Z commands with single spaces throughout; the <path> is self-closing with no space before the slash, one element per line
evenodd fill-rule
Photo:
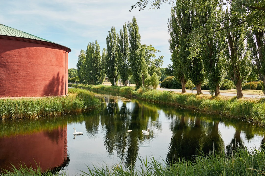
<path fill-rule="evenodd" d="M 174 91 L 174 92 L 182 92 L 182 89 L 165 89 L 165 88 L 157 88 L 157 90 L 161 90 L 161 91 Z M 186 89 L 186 92 L 188 93 L 191 93 L 191 90 L 187 90 Z M 197 93 L 197 90 L 193 90 L 192 93 L 196 94 Z M 202 91 L 203 94 L 206 94 L 206 95 L 210 95 L 210 92 L 209 91 Z M 222 96 L 237 96 L 236 93 L 223 93 L 223 92 L 220 92 L 220 94 Z M 243 96 L 246 97 L 246 98 L 265 98 L 264 95 L 254 95 L 254 94 L 244 94 L 243 93 Z"/>

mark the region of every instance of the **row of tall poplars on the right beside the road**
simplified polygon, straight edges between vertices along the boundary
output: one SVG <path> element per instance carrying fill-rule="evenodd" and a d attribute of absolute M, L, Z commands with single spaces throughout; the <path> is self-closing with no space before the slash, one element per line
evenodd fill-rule
<path fill-rule="evenodd" d="M 151 8 L 159 8 L 156 0 Z M 233 80 L 237 97 L 242 83 L 258 72 L 265 85 L 265 2 L 262 0 L 172 0 L 168 31 L 174 76 L 182 83 L 191 79 L 201 92 L 207 78 L 215 96 L 225 75 Z M 148 0 L 132 6 L 144 9 Z M 224 11 L 224 5 L 227 10 Z M 250 76 L 249 76 L 250 75 Z M 255 74 L 253 74 L 255 75 Z M 264 90 L 265 94 L 265 90 Z"/>

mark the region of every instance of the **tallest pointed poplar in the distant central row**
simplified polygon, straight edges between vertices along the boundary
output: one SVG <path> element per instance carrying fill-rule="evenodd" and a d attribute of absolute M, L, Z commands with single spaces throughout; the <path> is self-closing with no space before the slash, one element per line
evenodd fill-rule
<path fill-rule="evenodd" d="M 129 62 L 131 66 L 131 73 L 136 83 L 136 88 L 140 88 L 143 85 L 143 80 L 148 70 L 144 59 L 144 49 L 141 47 L 139 27 L 135 17 L 133 17 L 132 22 L 128 23 L 128 31 L 130 41 Z"/>

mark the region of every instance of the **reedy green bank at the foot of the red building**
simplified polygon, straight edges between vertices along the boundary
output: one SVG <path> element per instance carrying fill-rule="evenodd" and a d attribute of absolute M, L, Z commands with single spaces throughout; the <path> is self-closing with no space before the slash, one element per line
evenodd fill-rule
<path fill-rule="evenodd" d="M 69 89 L 67 97 L 1 99 L 0 119 L 36 118 L 82 112 L 99 107 L 99 100 L 82 89 Z"/>

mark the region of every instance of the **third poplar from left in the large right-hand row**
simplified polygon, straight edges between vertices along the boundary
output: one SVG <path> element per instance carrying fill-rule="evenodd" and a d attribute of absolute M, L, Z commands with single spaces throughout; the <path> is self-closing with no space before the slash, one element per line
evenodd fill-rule
<path fill-rule="evenodd" d="M 224 47 L 223 31 L 213 32 L 221 28 L 220 21 L 224 17 L 222 7 L 217 0 L 196 1 L 197 28 L 193 28 L 194 34 L 202 40 L 198 44 L 202 48 L 201 56 L 204 63 L 206 76 L 209 80 L 211 94 L 220 95 L 220 86 L 225 77 L 221 62 L 221 51 Z M 200 5 L 199 5 L 200 4 Z"/>

